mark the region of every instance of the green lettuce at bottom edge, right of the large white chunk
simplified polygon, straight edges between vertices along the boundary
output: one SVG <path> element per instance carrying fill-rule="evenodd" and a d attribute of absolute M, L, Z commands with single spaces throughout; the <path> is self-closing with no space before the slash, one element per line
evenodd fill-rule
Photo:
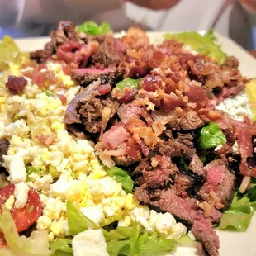
<path fill-rule="evenodd" d="M 111 256 L 153 256 L 164 255 L 176 249 L 177 241 L 159 237 L 156 233 L 141 232 L 139 225 L 118 227 L 104 232 L 107 251 Z"/>

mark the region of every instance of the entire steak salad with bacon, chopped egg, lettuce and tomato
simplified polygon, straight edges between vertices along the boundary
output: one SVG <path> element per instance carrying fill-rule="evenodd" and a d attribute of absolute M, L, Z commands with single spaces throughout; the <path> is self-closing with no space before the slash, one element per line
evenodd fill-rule
<path fill-rule="evenodd" d="M 0 44 L 0 254 L 219 255 L 256 206 L 256 80 L 212 31 L 61 21 Z"/>

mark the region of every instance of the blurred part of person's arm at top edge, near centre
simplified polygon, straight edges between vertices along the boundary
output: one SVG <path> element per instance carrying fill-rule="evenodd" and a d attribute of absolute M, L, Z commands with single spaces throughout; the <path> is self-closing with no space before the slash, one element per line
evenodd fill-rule
<path fill-rule="evenodd" d="M 176 5 L 180 0 L 126 0 L 133 2 L 140 7 L 153 10 L 167 10 Z"/>

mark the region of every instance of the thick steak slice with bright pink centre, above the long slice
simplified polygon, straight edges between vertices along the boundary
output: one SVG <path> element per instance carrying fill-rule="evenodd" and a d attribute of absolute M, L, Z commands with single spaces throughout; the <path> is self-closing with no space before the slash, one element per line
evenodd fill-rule
<path fill-rule="evenodd" d="M 226 207 L 230 206 L 235 193 L 235 174 L 230 173 L 225 160 L 211 161 L 211 163 L 204 167 L 204 170 L 206 173 L 206 182 L 202 185 L 197 195 L 211 202 L 214 200 L 211 197 L 212 192 L 214 192 L 216 197 L 220 198 L 221 204 Z"/>

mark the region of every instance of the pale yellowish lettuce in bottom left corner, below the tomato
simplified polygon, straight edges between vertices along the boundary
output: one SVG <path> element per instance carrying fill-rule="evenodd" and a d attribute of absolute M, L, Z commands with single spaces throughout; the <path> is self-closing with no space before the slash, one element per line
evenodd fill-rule
<path fill-rule="evenodd" d="M 22 256 L 50 255 L 47 231 L 33 231 L 29 238 L 24 235 L 19 236 L 10 211 L 4 207 L 0 215 L 0 230 L 4 234 L 10 251 L 13 252 L 12 254 Z"/>

